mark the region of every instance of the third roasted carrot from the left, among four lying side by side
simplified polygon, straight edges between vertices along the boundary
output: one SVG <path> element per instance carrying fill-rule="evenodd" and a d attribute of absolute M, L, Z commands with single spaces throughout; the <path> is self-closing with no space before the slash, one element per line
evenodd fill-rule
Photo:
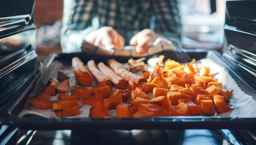
<path fill-rule="evenodd" d="M 104 63 L 100 62 L 98 64 L 99 70 L 108 76 L 108 78 L 112 81 L 112 83 L 118 89 L 125 89 L 127 86 L 127 82 L 122 79 L 119 75 L 116 75 L 109 67 L 107 67 Z"/>

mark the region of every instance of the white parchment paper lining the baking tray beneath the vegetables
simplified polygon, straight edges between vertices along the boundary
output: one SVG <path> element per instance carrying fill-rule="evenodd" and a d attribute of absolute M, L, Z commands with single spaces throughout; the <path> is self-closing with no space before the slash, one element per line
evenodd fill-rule
<path fill-rule="evenodd" d="M 221 113 L 218 114 L 217 116 L 226 116 L 226 117 L 242 117 L 242 118 L 250 118 L 250 117 L 256 117 L 256 101 L 252 99 L 252 96 L 247 95 L 244 93 L 236 84 L 236 81 L 227 73 L 227 71 L 224 70 L 223 67 L 219 66 L 216 64 L 214 61 L 206 58 L 200 60 L 201 66 L 202 67 L 210 67 L 210 73 L 218 73 L 215 75 L 215 79 L 218 79 L 218 81 L 222 82 L 223 87 L 232 90 L 232 97 L 230 99 L 229 104 L 231 104 L 232 108 L 235 108 L 232 111 L 226 112 L 226 113 Z M 59 61 L 54 61 L 49 67 L 44 67 L 41 65 L 41 71 L 42 75 L 38 79 L 38 82 L 35 86 L 35 90 L 30 94 L 31 96 L 36 96 L 38 93 L 41 92 L 41 90 L 44 87 L 44 84 L 47 84 L 47 81 L 49 78 L 57 78 L 58 70 L 64 70 L 68 76 L 69 76 L 69 81 L 71 83 L 71 90 L 77 86 L 79 86 L 74 78 L 74 73 L 72 72 L 71 67 L 64 66 L 61 64 Z M 150 68 L 148 68 L 150 70 Z M 93 85 L 96 85 L 98 82 L 96 79 L 93 79 Z M 91 87 L 87 87 L 88 89 L 91 89 Z M 112 87 L 112 90 L 116 90 L 116 88 Z M 58 94 L 56 96 L 52 96 L 52 101 L 55 101 L 57 99 Z M 148 99 L 152 99 L 152 93 L 148 93 Z M 123 102 L 128 103 L 128 102 Z M 81 104 L 79 103 L 79 108 L 80 108 L 80 115 L 77 116 L 70 116 L 69 118 L 84 118 L 88 117 L 90 114 L 90 105 L 86 104 Z M 114 116 L 116 110 L 111 110 L 111 116 Z M 50 109 L 49 110 L 40 110 L 40 109 L 35 109 L 32 107 L 29 102 L 27 102 L 24 105 L 24 109 L 19 113 L 19 117 L 22 117 L 27 114 L 35 114 L 47 118 L 53 118 L 56 117 L 55 113 L 53 113 Z M 211 117 L 216 117 L 216 116 L 211 116 Z"/>

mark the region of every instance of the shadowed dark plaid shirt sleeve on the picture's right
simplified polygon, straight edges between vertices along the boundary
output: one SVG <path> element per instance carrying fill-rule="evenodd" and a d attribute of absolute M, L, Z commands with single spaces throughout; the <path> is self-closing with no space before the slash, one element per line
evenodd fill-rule
<path fill-rule="evenodd" d="M 181 48 L 181 23 L 178 0 L 152 0 L 155 16 L 154 31 L 164 35 Z"/>

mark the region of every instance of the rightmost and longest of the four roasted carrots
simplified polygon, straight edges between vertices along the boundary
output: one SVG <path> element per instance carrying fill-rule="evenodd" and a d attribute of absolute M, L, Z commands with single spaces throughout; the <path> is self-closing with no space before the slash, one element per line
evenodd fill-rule
<path fill-rule="evenodd" d="M 147 79 L 126 70 L 122 66 L 122 64 L 117 62 L 115 59 L 108 60 L 108 65 L 117 75 L 120 75 L 125 81 L 134 81 L 136 83 L 147 82 Z"/>

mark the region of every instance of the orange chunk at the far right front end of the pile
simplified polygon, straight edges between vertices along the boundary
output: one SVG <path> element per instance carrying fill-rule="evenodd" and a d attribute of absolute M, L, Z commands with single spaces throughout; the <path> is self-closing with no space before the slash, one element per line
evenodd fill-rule
<path fill-rule="evenodd" d="M 232 108 L 230 108 L 226 104 L 223 96 L 215 94 L 213 96 L 213 100 L 214 100 L 214 103 L 216 105 L 218 113 L 223 113 L 223 112 L 227 112 L 227 111 L 231 111 L 232 110 Z"/>

